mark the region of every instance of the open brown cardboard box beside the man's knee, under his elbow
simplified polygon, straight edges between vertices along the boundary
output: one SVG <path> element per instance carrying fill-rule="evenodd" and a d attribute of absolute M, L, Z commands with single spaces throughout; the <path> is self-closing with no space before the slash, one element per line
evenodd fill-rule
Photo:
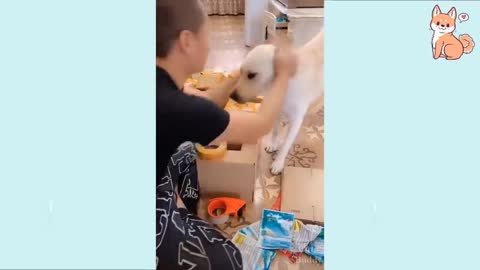
<path fill-rule="evenodd" d="M 257 144 L 229 145 L 222 160 L 197 161 L 202 195 L 240 198 L 253 202 L 255 191 Z"/>

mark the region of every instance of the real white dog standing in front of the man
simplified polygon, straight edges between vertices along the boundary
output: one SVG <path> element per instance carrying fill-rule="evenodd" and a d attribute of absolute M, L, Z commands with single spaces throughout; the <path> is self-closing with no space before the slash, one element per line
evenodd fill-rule
<path fill-rule="evenodd" d="M 283 171 L 285 159 L 297 137 L 305 113 L 310 105 L 324 93 L 323 48 L 323 31 L 321 31 L 309 43 L 298 49 L 297 73 L 289 81 L 283 108 L 283 115 L 288 120 L 290 128 L 283 140 L 279 134 L 282 126 L 281 116 L 279 116 L 265 148 L 269 153 L 278 151 L 271 167 L 273 174 Z M 260 45 L 250 51 L 242 63 L 239 85 L 232 95 L 234 99 L 239 102 L 247 102 L 254 100 L 257 96 L 264 96 L 266 91 L 270 90 L 274 76 L 274 56 L 275 47 L 273 45 Z"/>

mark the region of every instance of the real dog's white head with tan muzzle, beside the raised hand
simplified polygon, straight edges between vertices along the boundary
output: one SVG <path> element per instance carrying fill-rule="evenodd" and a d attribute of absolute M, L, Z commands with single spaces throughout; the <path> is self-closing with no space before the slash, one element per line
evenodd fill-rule
<path fill-rule="evenodd" d="M 238 86 L 231 98 L 245 103 L 264 95 L 270 89 L 274 77 L 274 57 L 273 45 L 260 45 L 252 49 L 242 63 Z"/>

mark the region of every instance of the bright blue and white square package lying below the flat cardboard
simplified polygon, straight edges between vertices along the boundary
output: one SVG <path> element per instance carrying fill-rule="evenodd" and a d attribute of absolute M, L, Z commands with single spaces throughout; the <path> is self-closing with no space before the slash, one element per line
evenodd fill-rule
<path fill-rule="evenodd" d="M 293 214 L 264 209 L 260 224 L 260 247 L 289 250 L 292 246 L 294 220 Z"/>

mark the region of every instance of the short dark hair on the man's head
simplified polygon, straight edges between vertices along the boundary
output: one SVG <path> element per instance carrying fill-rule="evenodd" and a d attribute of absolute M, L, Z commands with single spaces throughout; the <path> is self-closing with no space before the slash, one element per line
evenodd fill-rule
<path fill-rule="evenodd" d="M 157 0 L 157 57 L 166 57 L 182 31 L 197 33 L 204 21 L 199 0 Z"/>

